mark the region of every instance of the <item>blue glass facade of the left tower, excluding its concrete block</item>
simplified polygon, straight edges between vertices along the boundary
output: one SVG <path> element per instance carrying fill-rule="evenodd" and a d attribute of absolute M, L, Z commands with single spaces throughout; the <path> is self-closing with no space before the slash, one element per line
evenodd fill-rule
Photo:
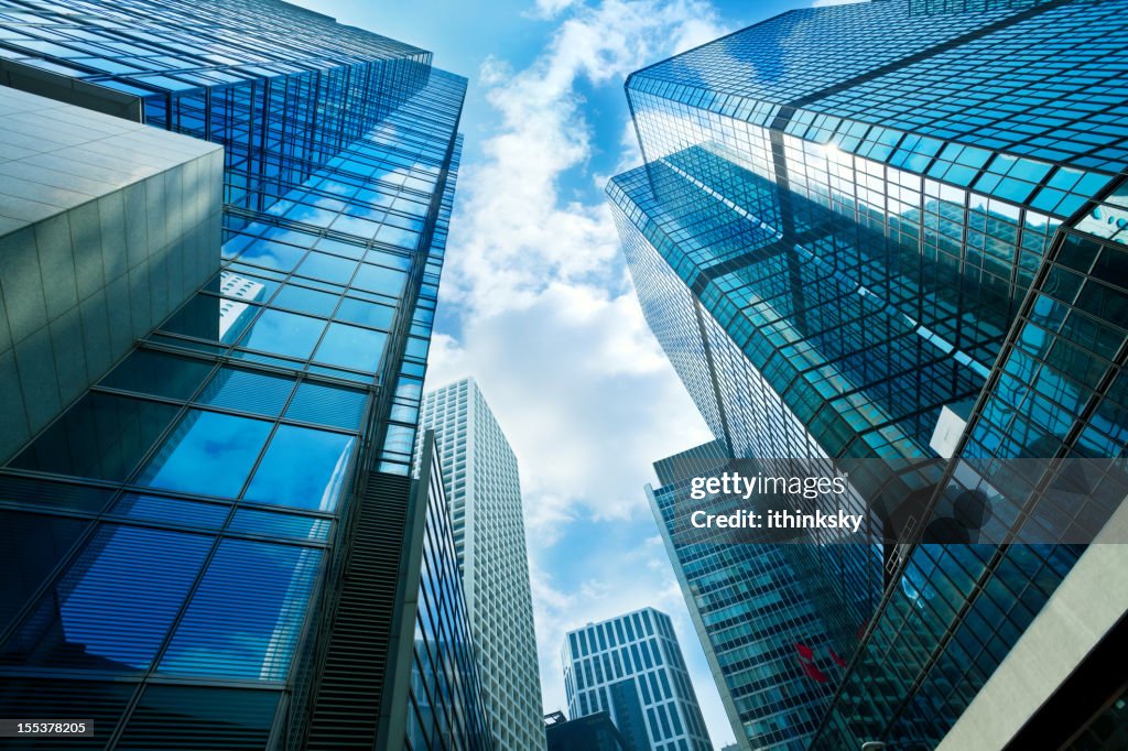
<path fill-rule="evenodd" d="M 37 748 L 319 748 L 335 613 L 372 583 L 344 562 L 387 551 L 396 581 L 411 557 L 390 531 L 354 530 L 373 486 L 399 488 L 381 507 L 406 503 L 466 80 L 272 0 L 6 0 L 0 55 L 133 97 L 144 122 L 226 159 L 211 280 L 0 472 L 0 715 L 95 719 L 91 737 Z M 152 219 L 125 231 L 159 232 Z M 446 594 L 421 606 L 432 661 L 416 655 L 426 697 L 411 697 L 432 740 L 412 748 L 484 722 L 473 690 L 446 690 L 477 680 L 446 523 L 428 522 Z M 368 643 L 355 670 L 380 672 Z M 462 679 L 434 670 L 453 653 Z M 372 699 L 371 744 L 379 682 L 354 692 Z"/>

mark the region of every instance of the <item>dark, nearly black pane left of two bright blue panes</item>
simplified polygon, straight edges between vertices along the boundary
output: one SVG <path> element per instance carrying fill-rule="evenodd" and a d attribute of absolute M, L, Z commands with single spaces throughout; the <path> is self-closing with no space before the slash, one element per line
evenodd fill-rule
<path fill-rule="evenodd" d="M 177 408 L 90 392 L 67 410 L 11 466 L 62 475 L 125 479 Z"/>

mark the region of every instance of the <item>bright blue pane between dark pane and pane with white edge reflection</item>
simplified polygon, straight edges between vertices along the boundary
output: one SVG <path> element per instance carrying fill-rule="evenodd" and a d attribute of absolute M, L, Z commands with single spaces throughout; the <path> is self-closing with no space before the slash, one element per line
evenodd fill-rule
<path fill-rule="evenodd" d="M 138 481 L 169 491 L 233 497 L 266 442 L 271 424 L 190 410 Z"/>

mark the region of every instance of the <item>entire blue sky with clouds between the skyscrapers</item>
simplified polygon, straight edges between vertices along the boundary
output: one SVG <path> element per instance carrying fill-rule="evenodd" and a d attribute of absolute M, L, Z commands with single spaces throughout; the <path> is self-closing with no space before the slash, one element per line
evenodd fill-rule
<path fill-rule="evenodd" d="M 731 742 L 643 493 L 654 460 L 710 435 L 643 321 L 602 188 L 638 162 L 628 73 L 811 3 L 300 2 L 469 79 L 429 386 L 474 376 L 520 461 L 546 710 L 565 707 L 566 630 L 653 606 L 714 744 Z"/>

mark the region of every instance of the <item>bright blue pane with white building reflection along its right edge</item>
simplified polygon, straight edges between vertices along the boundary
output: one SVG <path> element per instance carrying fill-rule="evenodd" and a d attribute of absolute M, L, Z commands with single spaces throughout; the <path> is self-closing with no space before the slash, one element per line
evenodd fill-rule
<path fill-rule="evenodd" d="M 280 425 L 244 497 L 333 511 L 347 480 L 353 438 Z"/>

